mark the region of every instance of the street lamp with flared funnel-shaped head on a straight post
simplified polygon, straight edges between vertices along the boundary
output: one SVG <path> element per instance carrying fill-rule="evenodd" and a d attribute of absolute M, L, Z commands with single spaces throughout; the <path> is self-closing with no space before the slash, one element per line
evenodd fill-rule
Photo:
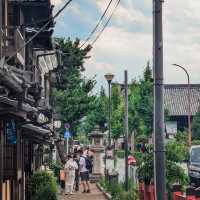
<path fill-rule="evenodd" d="M 111 82 L 114 78 L 114 75 L 111 73 L 108 73 L 108 74 L 105 74 L 104 77 L 108 82 L 108 94 L 109 94 L 108 145 L 111 146 Z"/>

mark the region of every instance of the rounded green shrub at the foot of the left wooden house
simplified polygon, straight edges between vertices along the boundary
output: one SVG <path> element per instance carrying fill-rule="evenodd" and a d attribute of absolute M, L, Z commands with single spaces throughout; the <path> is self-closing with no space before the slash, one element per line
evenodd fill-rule
<path fill-rule="evenodd" d="M 57 200 L 55 178 L 45 171 L 39 171 L 31 177 L 32 200 Z"/>

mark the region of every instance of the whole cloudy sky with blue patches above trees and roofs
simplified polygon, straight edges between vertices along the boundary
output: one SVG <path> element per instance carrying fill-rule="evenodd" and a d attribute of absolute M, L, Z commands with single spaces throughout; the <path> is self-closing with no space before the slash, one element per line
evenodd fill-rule
<path fill-rule="evenodd" d="M 108 15 L 117 0 L 113 0 Z M 52 0 L 55 10 L 66 0 Z M 73 0 L 56 20 L 55 36 L 84 41 L 97 24 L 109 0 Z M 184 66 L 192 83 L 200 83 L 200 1 L 166 0 L 163 4 L 164 82 L 186 83 L 186 74 L 172 66 Z M 96 35 L 94 35 L 95 38 Z M 121 0 L 111 23 L 85 62 L 85 75 L 96 76 L 97 88 L 105 85 L 105 73 L 123 82 L 142 76 L 147 61 L 152 66 L 152 0 Z"/>

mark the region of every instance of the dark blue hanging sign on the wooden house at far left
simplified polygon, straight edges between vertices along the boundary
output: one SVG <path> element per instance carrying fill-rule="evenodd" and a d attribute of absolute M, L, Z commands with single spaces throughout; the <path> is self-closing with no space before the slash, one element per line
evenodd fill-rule
<path fill-rule="evenodd" d="M 13 119 L 6 122 L 6 136 L 9 144 L 16 144 L 17 130 L 15 120 Z"/>

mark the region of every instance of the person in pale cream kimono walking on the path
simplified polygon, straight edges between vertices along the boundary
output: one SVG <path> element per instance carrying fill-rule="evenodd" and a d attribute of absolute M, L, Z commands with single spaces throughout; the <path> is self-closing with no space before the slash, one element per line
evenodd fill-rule
<path fill-rule="evenodd" d="M 73 194 L 76 169 L 78 169 L 78 165 L 72 155 L 69 155 L 65 164 L 65 195 Z"/>

